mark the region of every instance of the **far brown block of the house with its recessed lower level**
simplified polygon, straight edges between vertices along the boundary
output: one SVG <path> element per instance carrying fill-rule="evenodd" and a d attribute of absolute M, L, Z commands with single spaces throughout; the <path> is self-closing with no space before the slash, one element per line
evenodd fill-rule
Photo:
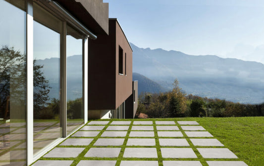
<path fill-rule="evenodd" d="M 89 118 L 134 118 L 137 102 L 128 100 L 137 98 L 137 85 L 132 86 L 137 84 L 132 82 L 132 48 L 117 19 L 109 19 L 108 35 L 89 40 L 88 50 Z"/>

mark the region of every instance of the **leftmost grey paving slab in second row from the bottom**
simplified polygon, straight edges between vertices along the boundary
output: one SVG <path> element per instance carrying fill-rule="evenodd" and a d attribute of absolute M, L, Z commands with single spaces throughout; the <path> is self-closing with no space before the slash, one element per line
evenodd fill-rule
<path fill-rule="evenodd" d="M 44 157 L 53 157 L 53 158 L 69 158 L 77 157 L 85 148 L 54 148 Z"/>

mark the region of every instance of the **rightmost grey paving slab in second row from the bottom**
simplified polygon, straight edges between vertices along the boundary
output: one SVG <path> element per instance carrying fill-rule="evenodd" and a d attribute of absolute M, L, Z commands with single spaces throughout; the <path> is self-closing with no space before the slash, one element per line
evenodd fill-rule
<path fill-rule="evenodd" d="M 197 148 L 203 158 L 236 159 L 237 156 L 227 148 Z"/>

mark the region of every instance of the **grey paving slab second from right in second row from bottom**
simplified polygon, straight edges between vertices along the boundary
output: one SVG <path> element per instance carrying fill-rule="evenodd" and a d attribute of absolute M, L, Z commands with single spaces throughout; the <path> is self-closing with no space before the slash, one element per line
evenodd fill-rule
<path fill-rule="evenodd" d="M 160 148 L 163 158 L 197 158 L 192 148 Z"/>

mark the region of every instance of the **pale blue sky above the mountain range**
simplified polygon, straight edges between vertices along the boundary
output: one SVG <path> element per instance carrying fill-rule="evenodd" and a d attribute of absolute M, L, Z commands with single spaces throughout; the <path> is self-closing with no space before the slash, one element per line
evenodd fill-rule
<path fill-rule="evenodd" d="M 264 64 L 264 0 L 104 0 L 142 48 Z"/>

